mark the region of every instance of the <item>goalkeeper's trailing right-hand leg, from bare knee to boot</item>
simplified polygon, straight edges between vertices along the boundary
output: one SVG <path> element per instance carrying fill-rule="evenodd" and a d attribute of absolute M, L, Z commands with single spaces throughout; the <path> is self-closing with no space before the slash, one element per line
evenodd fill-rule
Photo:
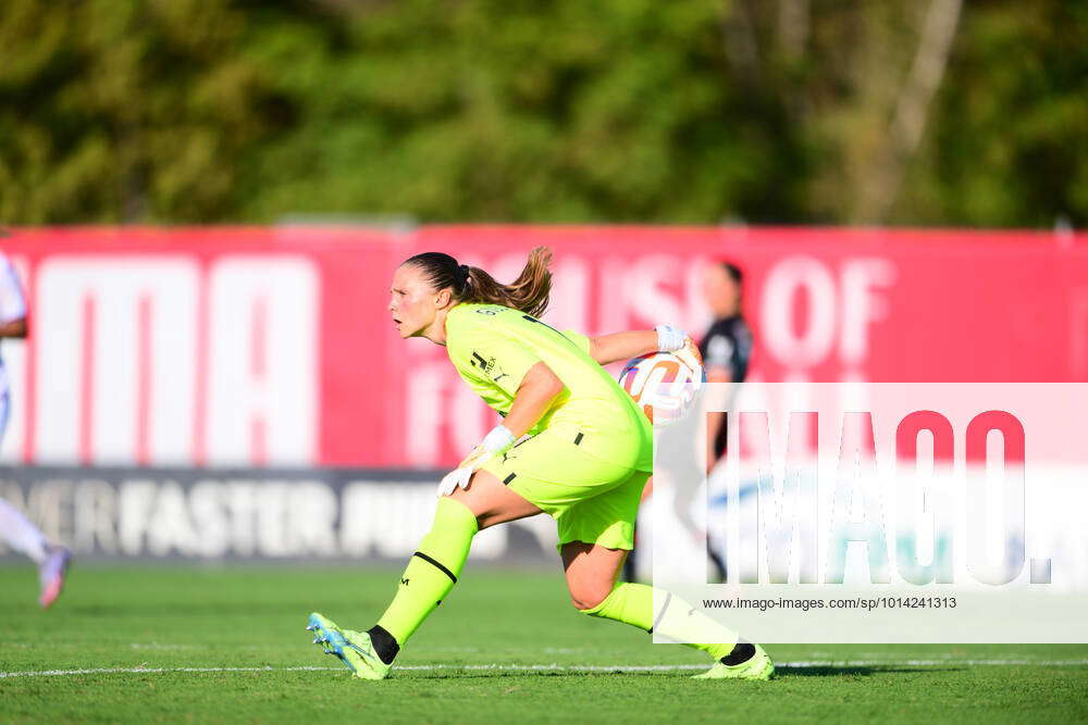
<path fill-rule="evenodd" d="M 565 543 L 562 564 L 574 607 L 590 616 L 630 624 L 706 652 L 715 664 L 702 677 L 767 679 L 771 676 L 774 664 L 762 648 L 742 641 L 735 632 L 679 597 L 658 591 L 655 611 L 653 587 L 617 585 L 626 555 L 622 549 L 583 541 Z"/>

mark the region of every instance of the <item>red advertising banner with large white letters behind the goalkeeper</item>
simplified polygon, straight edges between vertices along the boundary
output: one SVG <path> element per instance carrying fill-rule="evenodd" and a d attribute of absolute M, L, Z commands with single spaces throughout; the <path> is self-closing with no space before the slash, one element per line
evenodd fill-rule
<path fill-rule="evenodd" d="M 701 334 L 705 266 L 745 273 L 761 380 L 1088 379 L 1088 236 L 805 228 L 16 229 L 30 336 L 0 348 L 8 462 L 455 463 L 493 425 L 445 350 L 403 341 L 396 265 L 512 279 L 555 253 L 545 321 Z"/>

